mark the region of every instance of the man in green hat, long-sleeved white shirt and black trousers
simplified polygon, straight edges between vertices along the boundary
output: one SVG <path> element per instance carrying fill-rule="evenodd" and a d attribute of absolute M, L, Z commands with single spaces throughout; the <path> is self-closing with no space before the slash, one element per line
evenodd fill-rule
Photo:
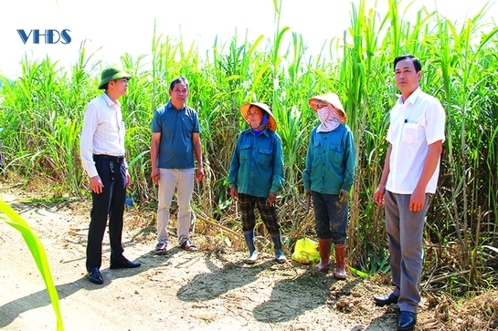
<path fill-rule="evenodd" d="M 126 94 L 130 78 L 120 67 L 102 71 L 99 88 L 105 91 L 88 104 L 81 130 L 80 154 L 90 176 L 92 197 L 86 267 L 94 284 L 103 284 L 102 239 L 108 216 L 111 269 L 140 266 L 122 255 L 122 214 L 131 178 L 124 159 L 125 132 L 118 98 Z"/>

